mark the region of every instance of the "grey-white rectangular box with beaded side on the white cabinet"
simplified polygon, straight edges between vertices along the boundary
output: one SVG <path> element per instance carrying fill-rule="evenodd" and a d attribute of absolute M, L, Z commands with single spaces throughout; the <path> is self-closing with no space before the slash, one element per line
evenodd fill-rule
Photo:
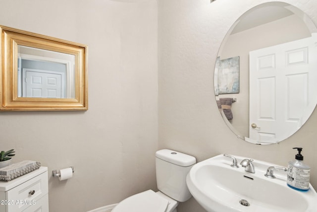
<path fill-rule="evenodd" d="M 20 177 L 26 173 L 40 168 L 41 163 L 32 160 L 23 160 L 19 163 L 0 168 L 0 180 L 10 181 L 14 178 Z"/>

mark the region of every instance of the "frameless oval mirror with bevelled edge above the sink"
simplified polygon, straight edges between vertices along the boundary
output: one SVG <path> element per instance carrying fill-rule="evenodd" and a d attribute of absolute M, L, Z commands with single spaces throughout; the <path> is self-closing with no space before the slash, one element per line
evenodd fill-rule
<path fill-rule="evenodd" d="M 317 104 L 317 28 L 284 2 L 260 4 L 226 34 L 214 70 L 219 111 L 241 139 L 283 141 Z"/>

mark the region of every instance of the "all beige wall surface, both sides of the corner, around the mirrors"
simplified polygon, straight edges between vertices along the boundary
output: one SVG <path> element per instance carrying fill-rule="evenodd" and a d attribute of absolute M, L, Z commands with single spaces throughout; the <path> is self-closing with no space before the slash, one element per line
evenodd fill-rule
<path fill-rule="evenodd" d="M 284 1 L 317 23 L 315 0 Z M 51 212 L 85 212 L 156 190 L 154 153 L 166 147 L 198 161 L 229 153 L 286 165 L 300 145 L 317 187 L 316 112 L 287 141 L 259 146 L 237 139 L 216 107 L 220 43 L 242 13 L 266 0 L 129 2 L 0 0 L 1 25 L 89 46 L 88 111 L 0 113 L 1 148 L 15 148 L 15 161 L 38 160 L 50 173 L 75 167 L 67 181 L 50 177 Z M 203 211 L 193 198 L 179 206 Z"/>

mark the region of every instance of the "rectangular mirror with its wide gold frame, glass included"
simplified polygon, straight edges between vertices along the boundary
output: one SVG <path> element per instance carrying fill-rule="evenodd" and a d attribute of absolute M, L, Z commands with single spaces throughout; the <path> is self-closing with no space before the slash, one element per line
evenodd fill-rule
<path fill-rule="evenodd" d="M 0 111 L 88 110 L 86 45 L 0 31 Z"/>

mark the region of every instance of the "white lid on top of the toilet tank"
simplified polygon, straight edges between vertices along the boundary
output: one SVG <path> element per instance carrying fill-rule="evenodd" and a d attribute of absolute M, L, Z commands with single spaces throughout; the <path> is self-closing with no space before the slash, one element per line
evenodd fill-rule
<path fill-rule="evenodd" d="M 161 149 L 156 152 L 155 156 L 179 166 L 191 166 L 196 163 L 195 157 L 170 149 Z"/>

